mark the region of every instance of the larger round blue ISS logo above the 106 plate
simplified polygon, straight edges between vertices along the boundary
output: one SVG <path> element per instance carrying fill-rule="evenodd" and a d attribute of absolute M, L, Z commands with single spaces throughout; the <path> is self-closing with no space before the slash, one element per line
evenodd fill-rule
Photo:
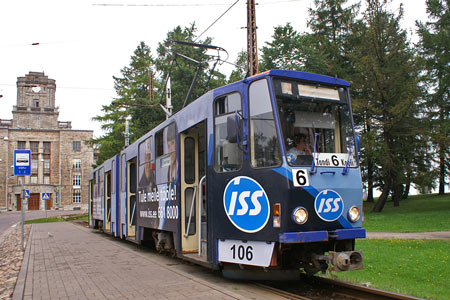
<path fill-rule="evenodd" d="M 269 199 L 264 189 L 250 177 L 233 178 L 223 194 L 225 213 L 241 231 L 258 232 L 269 220 Z"/>

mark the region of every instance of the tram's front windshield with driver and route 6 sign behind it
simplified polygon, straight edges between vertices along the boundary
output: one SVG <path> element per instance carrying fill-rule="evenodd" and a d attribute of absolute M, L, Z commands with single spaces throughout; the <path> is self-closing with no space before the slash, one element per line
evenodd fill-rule
<path fill-rule="evenodd" d="M 286 160 L 292 166 L 356 166 L 347 90 L 275 80 Z M 350 155 L 350 161 L 347 160 Z"/>

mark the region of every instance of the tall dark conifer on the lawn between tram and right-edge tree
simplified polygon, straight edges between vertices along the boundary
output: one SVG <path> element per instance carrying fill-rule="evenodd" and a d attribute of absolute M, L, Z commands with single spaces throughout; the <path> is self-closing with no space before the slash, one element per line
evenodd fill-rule
<path fill-rule="evenodd" d="M 405 162 L 420 144 L 415 126 L 418 69 L 406 31 L 400 29 L 402 7 L 396 16 L 387 10 L 387 0 L 366 0 L 366 4 L 363 19 L 355 26 L 359 42 L 350 63 L 360 74 L 353 77 L 358 91 L 354 103 L 364 114 L 365 128 L 370 128 L 364 136 L 371 147 L 366 155 L 380 168 L 382 194 L 374 206 L 379 212 L 391 192 L 394 204 L 399 204 L 407 183 Z"/>

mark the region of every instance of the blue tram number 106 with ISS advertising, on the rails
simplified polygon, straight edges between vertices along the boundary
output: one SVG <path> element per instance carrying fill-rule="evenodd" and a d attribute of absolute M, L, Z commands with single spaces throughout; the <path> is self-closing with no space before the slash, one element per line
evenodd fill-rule
<path fill-rule="evenodd" d="M 118 236 L 232 277 L 362 268 L 362 182 L 344 80 L 284 70 L 246 78 L 204 94 L 115 158 Z M 103 167 L 91 175 L 94 219 L 108 207 L 101 187 L 95 196 Z"/>

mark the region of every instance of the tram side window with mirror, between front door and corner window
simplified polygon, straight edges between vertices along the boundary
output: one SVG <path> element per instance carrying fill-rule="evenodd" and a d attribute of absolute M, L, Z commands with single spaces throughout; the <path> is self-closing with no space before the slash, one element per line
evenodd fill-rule
<path fill-rule="evenodd" d="M 236 171 L 242 166 L 242 151 L 239 149 L 241 102 L 239 93 L 221 96 L 214 102 L 214 168 L 217 172 Z"/>

